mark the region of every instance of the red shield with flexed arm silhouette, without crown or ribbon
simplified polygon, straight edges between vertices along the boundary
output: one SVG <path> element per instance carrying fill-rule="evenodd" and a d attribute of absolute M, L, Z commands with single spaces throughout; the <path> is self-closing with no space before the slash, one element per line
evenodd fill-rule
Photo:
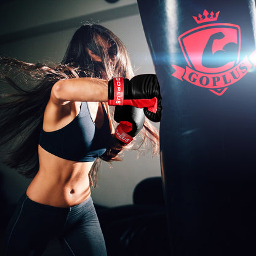
<path fill-rule="evenodd" d="M 178 38 L 190 68 L 208 74 L 230 70 L 239 61 L 241 33 L 238 25 L 215 23 L 198 26 Z"/>

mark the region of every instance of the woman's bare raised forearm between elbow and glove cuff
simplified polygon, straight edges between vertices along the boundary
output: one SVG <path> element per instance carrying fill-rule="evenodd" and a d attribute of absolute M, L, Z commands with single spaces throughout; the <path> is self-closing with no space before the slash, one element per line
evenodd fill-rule
<path fill-rule="evenodd" d="M 52 87 L 51 98 L 57 105 L 70 102 L 107 102 L 108 81 L 97 78 L 59 80 Z"/>

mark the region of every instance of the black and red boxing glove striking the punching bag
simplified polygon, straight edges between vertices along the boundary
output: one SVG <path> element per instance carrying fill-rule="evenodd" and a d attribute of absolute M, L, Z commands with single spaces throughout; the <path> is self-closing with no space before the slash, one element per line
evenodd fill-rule
<path fill-rule="evenodd" d="M 143 108 L 145 116 L 159 122 L 162 97 L 155 74 L 140 74 L 134 78 L 113 78 L 108 82 L 108 105 L 131 105 Z"/>

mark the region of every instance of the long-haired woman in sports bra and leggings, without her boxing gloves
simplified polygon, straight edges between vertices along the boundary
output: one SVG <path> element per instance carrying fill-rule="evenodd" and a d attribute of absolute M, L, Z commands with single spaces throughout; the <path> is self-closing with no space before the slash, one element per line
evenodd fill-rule
<path fill-rule="evenodd" d="M 126 48 L 103 26 L 83 25 L 62 65 L 11 58 L 0 63 L 2 79 L 15 89 L 2 95 L 0 105 L 1 144 L 9 146 L 5 162 L 33 178 L 7 227 L 5 255 L 41 255 L 54 236 L 67 255 L 106 255 L 90 186 L 97 181 L 98 159 L 118 160 L 126 148 L 113 135 L 106 104 L 108 80 L 133 76 Z M 18 71 L 26 73 L 22 87 Z M 31 79 L 36 85 L 25 89 Z M 145 121 L 141 134 L 155 153 L 156 129 Z"/>

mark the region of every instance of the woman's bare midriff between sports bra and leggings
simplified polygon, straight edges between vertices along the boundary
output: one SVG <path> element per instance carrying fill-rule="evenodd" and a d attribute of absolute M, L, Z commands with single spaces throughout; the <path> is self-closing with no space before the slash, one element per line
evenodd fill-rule
<path fill-rule="evenodd" d="M 39 171 L 26 190 L 32 201 L 56 207 L 75 206 L 90 197 L 89 171 L 94 162 L 58 158 L 38 146 Z"/>

